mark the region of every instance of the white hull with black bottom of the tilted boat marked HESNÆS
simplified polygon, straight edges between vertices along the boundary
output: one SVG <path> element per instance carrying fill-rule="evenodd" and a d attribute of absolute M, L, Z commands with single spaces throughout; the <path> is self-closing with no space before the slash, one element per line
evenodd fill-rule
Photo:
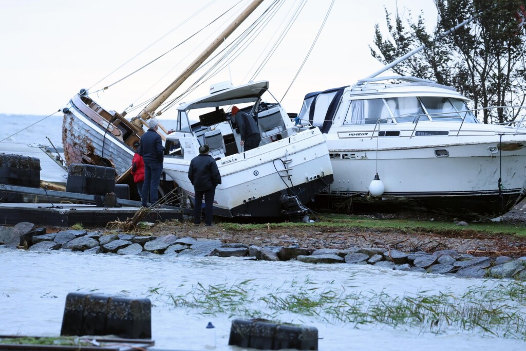
<path fill-rule="evenodd" d="M 165 156 L 164 172 L 193 198 L 190 159 Z M 287 206 L 288 196 L 296 196 L 304 206 L 333 180 L 325 138 L 317 128 L 216 162 L 221 184 L 216 188 L 214 214 L 224 217 L 305 215 Z"/>

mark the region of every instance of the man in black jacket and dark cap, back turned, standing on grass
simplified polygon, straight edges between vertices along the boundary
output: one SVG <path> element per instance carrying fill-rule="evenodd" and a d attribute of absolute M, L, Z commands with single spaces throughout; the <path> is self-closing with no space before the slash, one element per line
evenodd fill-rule
<path fill-rule="evenodd" d="M 199 156 L 190 161 L 188 169 L 188 179 L 194 186 L 195 204 L 194 204 L 194 224 L 201 223 L 201 205 L 203 196 L 205 196 L 205 225 L 212 225 L 214 195 L 216 186 L 221 184 L 221 175 L 217 168 L 214 157 L 208 155 L 210 148 L 204 144 L 199 147 Z"/>

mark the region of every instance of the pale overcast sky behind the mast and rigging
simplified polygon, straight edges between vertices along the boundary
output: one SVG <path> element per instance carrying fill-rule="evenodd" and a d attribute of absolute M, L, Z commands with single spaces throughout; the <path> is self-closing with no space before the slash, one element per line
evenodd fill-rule
<path fill-rule="evenodd" d="M 231 16 L 211 25 L 208 32 L 199 34 L 188 45 L 175 49 L 164 61 L 159 60 L 159 67 L 92 96 L 107 109 L 123 111 L 129 104 L 162 91 L 249 2 L 0 0 L 0 113 L 51 114 L 64 107 L 80 88 L 91 87 L 95 91 L 117 81 L 237 4 L 237 11 Z M 270 3 L 271 0 L 265 0 L 244 27 Z M 227 81 L 231 75 L 235 85 L 247 83 L 272 48 L 276 40 L 273 36 L 299 3 L 300 0 L 286 0 L 255 44 L 232 58 L 230 73 L 225 69 L 213 81 Z M 330 3 L 331 0 L 308 0 L 287 37 L 256 76 L 255 80 L 270 81 L 270 91 L 278 99 L 284 96 L 304 60 Z M 404 18 L 411 13 L 415 20 L 423 11 L 430 31 L 436 23 L 432 0 L 336 0 L 308 61 L 283 99 L 288 112 L 299 112 L 308 92 L 352 84 L 381 67 L 370 56 L 368 45 L 372 44 L 375 24 L 387 32 L 384 6 L 389 12 L 398 9 Z M 167 33 L 147 52 L 96 84 Z M 185 101 L 208 94 L 208 88 L 209 83 L 205 83 Z"/>

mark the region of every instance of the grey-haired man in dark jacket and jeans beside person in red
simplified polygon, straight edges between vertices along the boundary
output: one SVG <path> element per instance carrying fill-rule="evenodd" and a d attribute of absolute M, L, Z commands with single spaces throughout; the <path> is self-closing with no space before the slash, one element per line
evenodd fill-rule
<path fill-rule="evenodd" d="M 140 148 L 144 161 L 143 206 L 148 207 L 148 194 L 151 204 L 157 202 L 157 187 L 163 173 L 164 147 L 157 133 L 159 122 L 155 118 L 148 120 L 148 131 L 140 137 Z"/>

